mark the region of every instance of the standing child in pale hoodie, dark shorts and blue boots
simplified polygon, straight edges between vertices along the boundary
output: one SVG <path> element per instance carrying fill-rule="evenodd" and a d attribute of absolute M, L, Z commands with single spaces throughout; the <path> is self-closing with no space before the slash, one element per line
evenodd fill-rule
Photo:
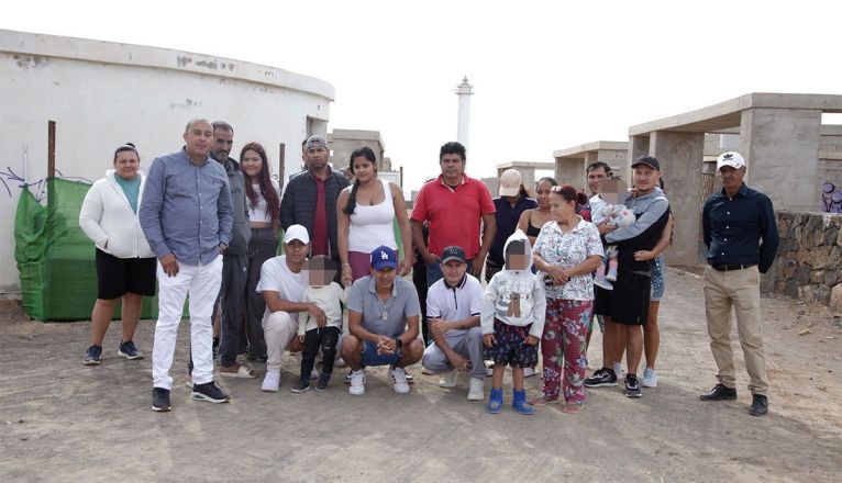
<path fill-rule="evenodd" d="M 495 363 L 486 411 L 502 411 L 502 377 L 508 364 L 514 385 L 511 406 L 520 414 L 532 414 L 523 389 L 523 368 L 538 363 L 546 296 L 543 282 L 530 270 L 532 247 L 523 232 L 518 229 L 506 240 L 503 254 L 506 267 L 488 282 L 480 312 L 486 359 Z"/>

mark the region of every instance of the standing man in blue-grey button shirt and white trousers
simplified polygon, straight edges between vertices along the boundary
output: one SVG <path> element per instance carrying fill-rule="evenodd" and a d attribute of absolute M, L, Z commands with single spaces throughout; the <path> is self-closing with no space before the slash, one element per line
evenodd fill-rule
<path fill-rule="evenodd" d="M 185 299 L 190 295 L 191 397 L 229 400 L 213 382 L 211 312 L 222 280 L 222 251 L 231 239 L 233 207 L 225 169 L 208 156 L 213 127 L 192 120 L 185 147 L 155 158 L 139 217 L 158 257 L 158 322 L 152 350 L 152 409 L 169 411 L 169 369 Z"/>

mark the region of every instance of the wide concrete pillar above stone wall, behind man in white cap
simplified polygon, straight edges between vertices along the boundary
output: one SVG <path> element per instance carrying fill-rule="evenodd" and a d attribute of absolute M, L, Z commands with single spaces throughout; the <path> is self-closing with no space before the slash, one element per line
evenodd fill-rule
<path fill-rule="evenodd" d="M 746 109 L 740 122 L 745 183 L 772 199 L 775 210 L 817 211 L 821 111 Z"/>

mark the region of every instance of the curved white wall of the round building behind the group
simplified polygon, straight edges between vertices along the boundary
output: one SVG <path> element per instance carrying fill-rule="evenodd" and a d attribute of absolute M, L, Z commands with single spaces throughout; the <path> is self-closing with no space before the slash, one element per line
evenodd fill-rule
<path fill-rule="evenodd" d="M 141 166 L 182 146 L 192 117 L 233 125 L 234 150 L 262 143 L 277 170 L 300 166 L 300 144 L 326 134 L 333 87 L 234 59 L 164 48 L 0 30 L 0 295 L 20 292 L 13 218 L 20 184 L 46 176 L 47 121 L 57 123 L 56 169 L 96 180 L 117 146 Z"/>

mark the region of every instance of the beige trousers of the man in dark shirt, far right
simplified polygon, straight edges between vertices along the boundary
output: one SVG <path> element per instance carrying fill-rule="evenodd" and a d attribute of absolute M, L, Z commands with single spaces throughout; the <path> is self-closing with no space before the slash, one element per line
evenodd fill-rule
<path fill-rule="evenodd" d="M 727 387 L 736 387 L 731 347 L 731 308 L 736 313 L 736 332 L 743 348 L 752 394 L 768 391 L 766 359 L 763 355 L 761 326 L 760 272 L 757 267 L 717 271 L 705 268 L 705 315 L 708 319 L 710 350 L 717 361 L 717 379 Z"/>

